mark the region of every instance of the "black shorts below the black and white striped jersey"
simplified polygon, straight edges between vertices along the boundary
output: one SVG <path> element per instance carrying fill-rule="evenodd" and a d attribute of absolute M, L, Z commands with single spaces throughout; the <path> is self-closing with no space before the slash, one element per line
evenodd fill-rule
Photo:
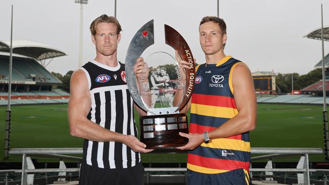
<path fill-rule="evenodd" d="M 144 167 L 138 163 L 131 168 L 109 169 L 98 168 L 85 163 L 81 164 L 79 185 L 143 185 Z"/>

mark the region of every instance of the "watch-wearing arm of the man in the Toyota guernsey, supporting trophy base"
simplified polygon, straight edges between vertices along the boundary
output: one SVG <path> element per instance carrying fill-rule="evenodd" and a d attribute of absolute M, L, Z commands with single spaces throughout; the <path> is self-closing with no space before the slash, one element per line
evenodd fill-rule
<path fill-rule="evenodd" d="M 257 103 L 251 72 L 242 63 L 234 68 L 232 75 L 234 100 L 238 114 L 218 128 L 209 131 L 209 137 L 211 139 L 241 134 L 253 130 L 256 127 Z M 181 150 L 193 150 L 204 141 L 202 134 L 199 133 L 186 134 L 180 132 L 180 135 L 189 138 L 188 144 L 178 148 Z"/>

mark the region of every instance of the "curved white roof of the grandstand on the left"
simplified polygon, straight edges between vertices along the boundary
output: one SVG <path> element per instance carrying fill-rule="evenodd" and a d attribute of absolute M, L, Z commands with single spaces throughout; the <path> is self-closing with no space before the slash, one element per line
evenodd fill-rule
<path fill-rule="evenodd" d="M 0 51 L 10 52 L 9 45 L 10 41 L 0 41 Z M 31 40 L 13 40 L 13 53 L 28 56 L 38 61 L 67 55 L 58 49 Z"/>

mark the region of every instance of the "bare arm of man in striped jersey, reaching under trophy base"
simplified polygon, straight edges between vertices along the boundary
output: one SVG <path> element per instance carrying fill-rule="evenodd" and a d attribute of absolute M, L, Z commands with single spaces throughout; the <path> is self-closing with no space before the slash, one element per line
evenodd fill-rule
<path fill-rule="evenodd" d="M 150 152 L 146 145 L 133 135 L 124 135 L 101 127 L 89 119 L 87 115 L 91 108 L 91 97 L 86 74 L 81 69 L 75 71 L 70 81 L 70 100 L 68 103 L 68 118 L 70 133 L 73 136 L 98 142 L 120 142 L 129 146 L 135 152 Z"/>

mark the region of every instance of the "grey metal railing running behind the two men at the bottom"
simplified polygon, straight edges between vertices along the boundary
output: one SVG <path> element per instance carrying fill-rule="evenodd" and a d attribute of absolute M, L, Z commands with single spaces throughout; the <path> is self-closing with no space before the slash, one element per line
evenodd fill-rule
<path fill-rule="evenodd" d="M 81 158 L 74 156 L 66 156 L 63 154 L 82 154 L 82 148 L 26 148 L 26 149 L 10 149 L 10 155 L 22 155 L 22 169 L 17 170 L 0 170 L 0 173 L 16 172 L 21 173 L 21 184 L 33 184 L 34 174 L 40 172 L 59 172 L 60 176 L 65 176 L 66 172 L 79 172 L 79 168 L 66 168 L 64 162 L 60 161 L 59 168 L 45 168 L 35 169 L 33 162 L 29 156 L 42 155 L 52 158 L 60 159 L 73 159 L 81 161 Z M 252 172 L 265 172 L 267 182 L 273 182 L 273 172 L 300 172 L 298 173 L 298 184 L 309 185 L 310 184 L 310 172 L 329 172 L 327 169 L 310 169 L 308 155 L 309 154 L 322 154 L 323 150 L 320 148 L 252 148 L 252 154 L 267 154 L 263 156 L 252 157 L 252 161 L 269 159 L 265 168 L 250 168 Z M 301 155 L 299 163 L 296 168 L 272 168 L 272 158 L 284 157 L 290 155 Z M 145 172 L 148 178 L 148 172 L 152 171 L 186 171 L 186 168 L 145 168 Z M 59 181 L 65 178 L 58 179 Z M 146 181 L 146 183 L 148 183 Z"/>

